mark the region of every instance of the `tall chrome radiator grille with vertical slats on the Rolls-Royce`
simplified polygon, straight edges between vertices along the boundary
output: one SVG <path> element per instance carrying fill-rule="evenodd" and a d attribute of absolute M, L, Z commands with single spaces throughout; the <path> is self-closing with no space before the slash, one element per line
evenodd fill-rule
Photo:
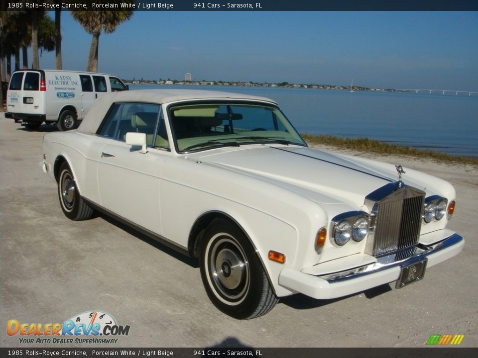
<path fill-rule="evenodd" d="M 387 184 L 367 195 L 371 208 L 370 233 L 365 253 L 387 255 L 418 244 L 424 213 L 425 192 L 397 183 Z"/>

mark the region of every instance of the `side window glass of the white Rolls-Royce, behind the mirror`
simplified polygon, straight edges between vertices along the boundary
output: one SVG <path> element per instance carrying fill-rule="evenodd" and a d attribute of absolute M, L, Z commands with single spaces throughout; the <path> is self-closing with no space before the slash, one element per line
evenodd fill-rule
<path fill-rule="evenodd" d="M 153 145 L 161 106 L 149 103 L 116 103 L 98 135 L 124 141 L 127 132 L 146 133 L 146 144 Z M 164 120 L 163 120 L 164 125 Z"/>

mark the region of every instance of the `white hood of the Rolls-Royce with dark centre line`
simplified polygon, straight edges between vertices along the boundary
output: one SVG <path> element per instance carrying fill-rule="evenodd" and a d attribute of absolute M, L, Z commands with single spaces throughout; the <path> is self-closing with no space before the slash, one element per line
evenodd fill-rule
<path fill-rule="evenodd" d="M 307 147 L 224 148 L 191 159 L 268 181 L 322 204 L 362 206 L 367 194 L 398 179 L 396 172 Z"/>

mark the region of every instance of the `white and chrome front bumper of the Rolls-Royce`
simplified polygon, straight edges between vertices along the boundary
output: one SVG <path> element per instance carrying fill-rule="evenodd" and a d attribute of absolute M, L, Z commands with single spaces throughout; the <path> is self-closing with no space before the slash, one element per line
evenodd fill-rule
<path fill-rule="evenodd" d="M 412 256 L 400 259 L 396 254 L 373 258 L 373 262 L 347 270 L 313 275 L 294 269 L 283 269 L 279 274 L 279 285 L 292 292 L 303 293 L 316 299 L 331 299 L 361 292 L 381 284 L 396 281 L 402 267 L 413 265 L 425 259 L 427 267 L 459 254 L 465 240 L 452 234 L 431 246 L 417 246 Z"/>

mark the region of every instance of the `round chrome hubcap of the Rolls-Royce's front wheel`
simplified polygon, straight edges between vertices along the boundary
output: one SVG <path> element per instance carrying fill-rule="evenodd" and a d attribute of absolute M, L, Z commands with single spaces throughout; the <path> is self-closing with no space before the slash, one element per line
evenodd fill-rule
<path fill-rule="evenodd" d="M 240 299 L 249 286 L 249 265 L 236 241 L 218 240 L 211 249 L 210 270 L 214 286 L 228 299 Z"/>

